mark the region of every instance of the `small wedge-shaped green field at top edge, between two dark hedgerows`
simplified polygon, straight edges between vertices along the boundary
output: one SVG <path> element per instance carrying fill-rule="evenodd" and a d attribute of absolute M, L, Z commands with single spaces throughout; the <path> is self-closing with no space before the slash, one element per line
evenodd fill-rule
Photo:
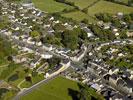
<path fill-rule="evenodd" d="M 93 4 L 97 0 L 67 0 L 67 1 L 74 2 L 76 6 L 78 6 L 80 9 L 83 9 Z"/>

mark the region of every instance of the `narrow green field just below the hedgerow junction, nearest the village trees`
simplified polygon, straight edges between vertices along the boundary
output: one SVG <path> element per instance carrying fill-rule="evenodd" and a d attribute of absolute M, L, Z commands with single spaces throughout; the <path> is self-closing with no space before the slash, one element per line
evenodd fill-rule
<path fill-rule="evenodd" d="M 89 22 L 95 22 L 96 21 L 95 19 L 93 19 L 89 15 L 84 14 L 80 11 L 62 14 L 62 16 L 67 17 L 67 18 L 72 18 L 73 20 L 76 20 L 76 21 L 79 21 L 79 22 L 82 21 L 84 18 L 88 19 Z"/>

